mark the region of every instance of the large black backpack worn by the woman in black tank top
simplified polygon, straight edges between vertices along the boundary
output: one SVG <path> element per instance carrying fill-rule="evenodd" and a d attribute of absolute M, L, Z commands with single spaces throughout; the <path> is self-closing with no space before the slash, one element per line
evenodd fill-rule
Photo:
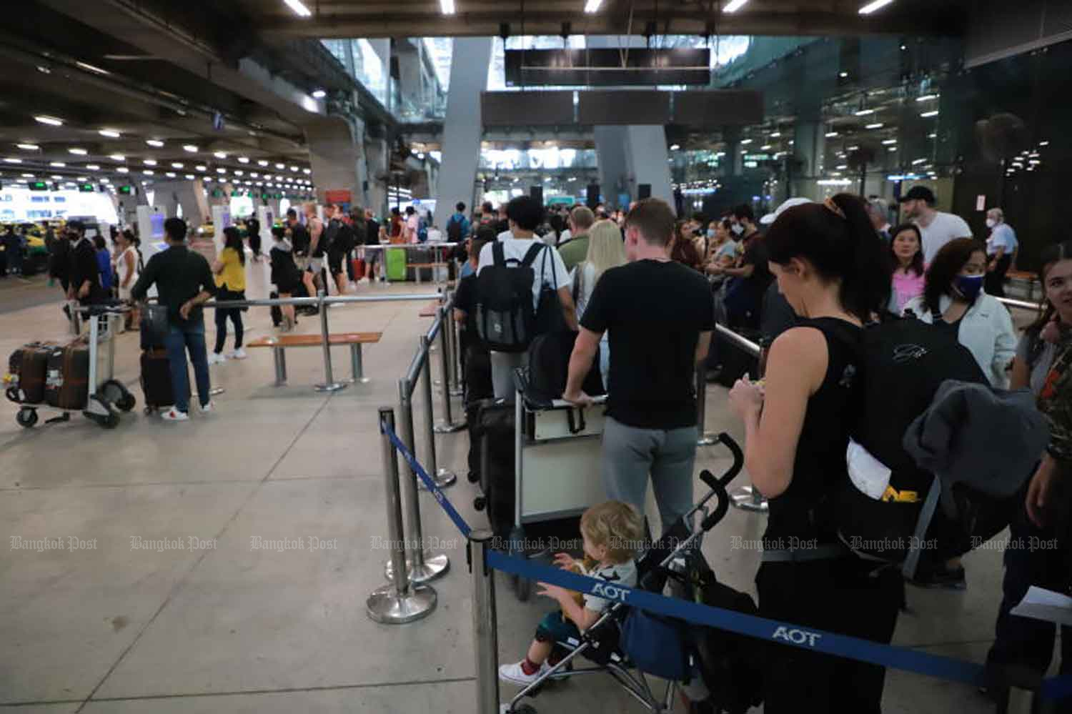
<path fill-rule="evenodd" d="M 947 380 L 987 384 L 971 352 L 953 333 L 914 317 L 863 330 L 857 375 L 862 410 L 852 438 L 891 470 L 890 486 L 875 500 L 846 478 L 835 488 L 832 511 L 838 535 L 853 551 L 905 563 L 909 577 L 934 515 L 924 505 L 937 481 L 915 465 L 903 442 Z M 942 529 L 942 536 L 955 531 Z"/>

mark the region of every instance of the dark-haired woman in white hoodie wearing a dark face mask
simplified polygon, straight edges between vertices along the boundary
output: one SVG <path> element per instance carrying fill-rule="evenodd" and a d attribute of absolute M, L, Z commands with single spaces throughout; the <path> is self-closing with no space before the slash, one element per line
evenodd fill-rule
<path fill-rule="evenodd" d="M 972 238 L 946 243 L 927 267 L 923 295 L 905 306 L 920 319 L 953 332 L 994 387 L 1009 387 L 1016 331 L 1009 310 L 983 291 L 986 247 Z"/>

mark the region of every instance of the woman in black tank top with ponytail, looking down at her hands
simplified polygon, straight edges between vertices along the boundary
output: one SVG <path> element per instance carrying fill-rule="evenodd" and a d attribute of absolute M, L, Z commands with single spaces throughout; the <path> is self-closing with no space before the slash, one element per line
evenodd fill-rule
<path fill-rule="evenodd" d="M 770 503 L 756 575 L 760 615 L 889 643 L 899 571 L 854 555 L 830 512 L 861 414 L 853 387 L 862 326 L 889 299 L 882 243 L 862 200 L 848 194 L 784 211 L 763 240 L 801 319 L 771 346 L 765 383 L 745 378 L 730 391 L 745 423 L 745 465 Z M 766 714 L 881 711 L 881 667 L 780 643 L 766 654 Z"/>

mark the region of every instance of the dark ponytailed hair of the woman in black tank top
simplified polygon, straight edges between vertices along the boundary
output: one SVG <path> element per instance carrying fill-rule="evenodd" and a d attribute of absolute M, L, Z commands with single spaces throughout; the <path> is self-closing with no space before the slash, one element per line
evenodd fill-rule
<path fill-rule="evenodd" d="M 804 258 L 821 278 L 840 281 L 842 307 L 870 322 L 889 303 L 892 271 L 864 202 L 839 193 L 825 204 L 802 204 L 786 210 L 766 237 L 771 262 L 787 265 Z"/>

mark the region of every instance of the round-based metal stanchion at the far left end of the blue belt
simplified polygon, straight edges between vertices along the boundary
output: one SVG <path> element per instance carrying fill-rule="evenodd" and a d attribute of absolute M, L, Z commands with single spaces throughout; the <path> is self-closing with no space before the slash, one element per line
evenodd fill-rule
<path fill-rule="evenodd" d="M 379 422 L 394 429 L 394 410 L 379 407 Z M 381 435 L 384 478 L 387 494 L 387 537 L 391 544 L 394 578 L 372 591 L 364 601 L 370 619 L 384 624 L 402 624 L 419 620 L 435 609 L 435 590 L 431 585 L 410 584 L 405 578 L 405 549 L 402 535 L 402 500 L 399 493 L 399 462 L 387 434 Z"/>

